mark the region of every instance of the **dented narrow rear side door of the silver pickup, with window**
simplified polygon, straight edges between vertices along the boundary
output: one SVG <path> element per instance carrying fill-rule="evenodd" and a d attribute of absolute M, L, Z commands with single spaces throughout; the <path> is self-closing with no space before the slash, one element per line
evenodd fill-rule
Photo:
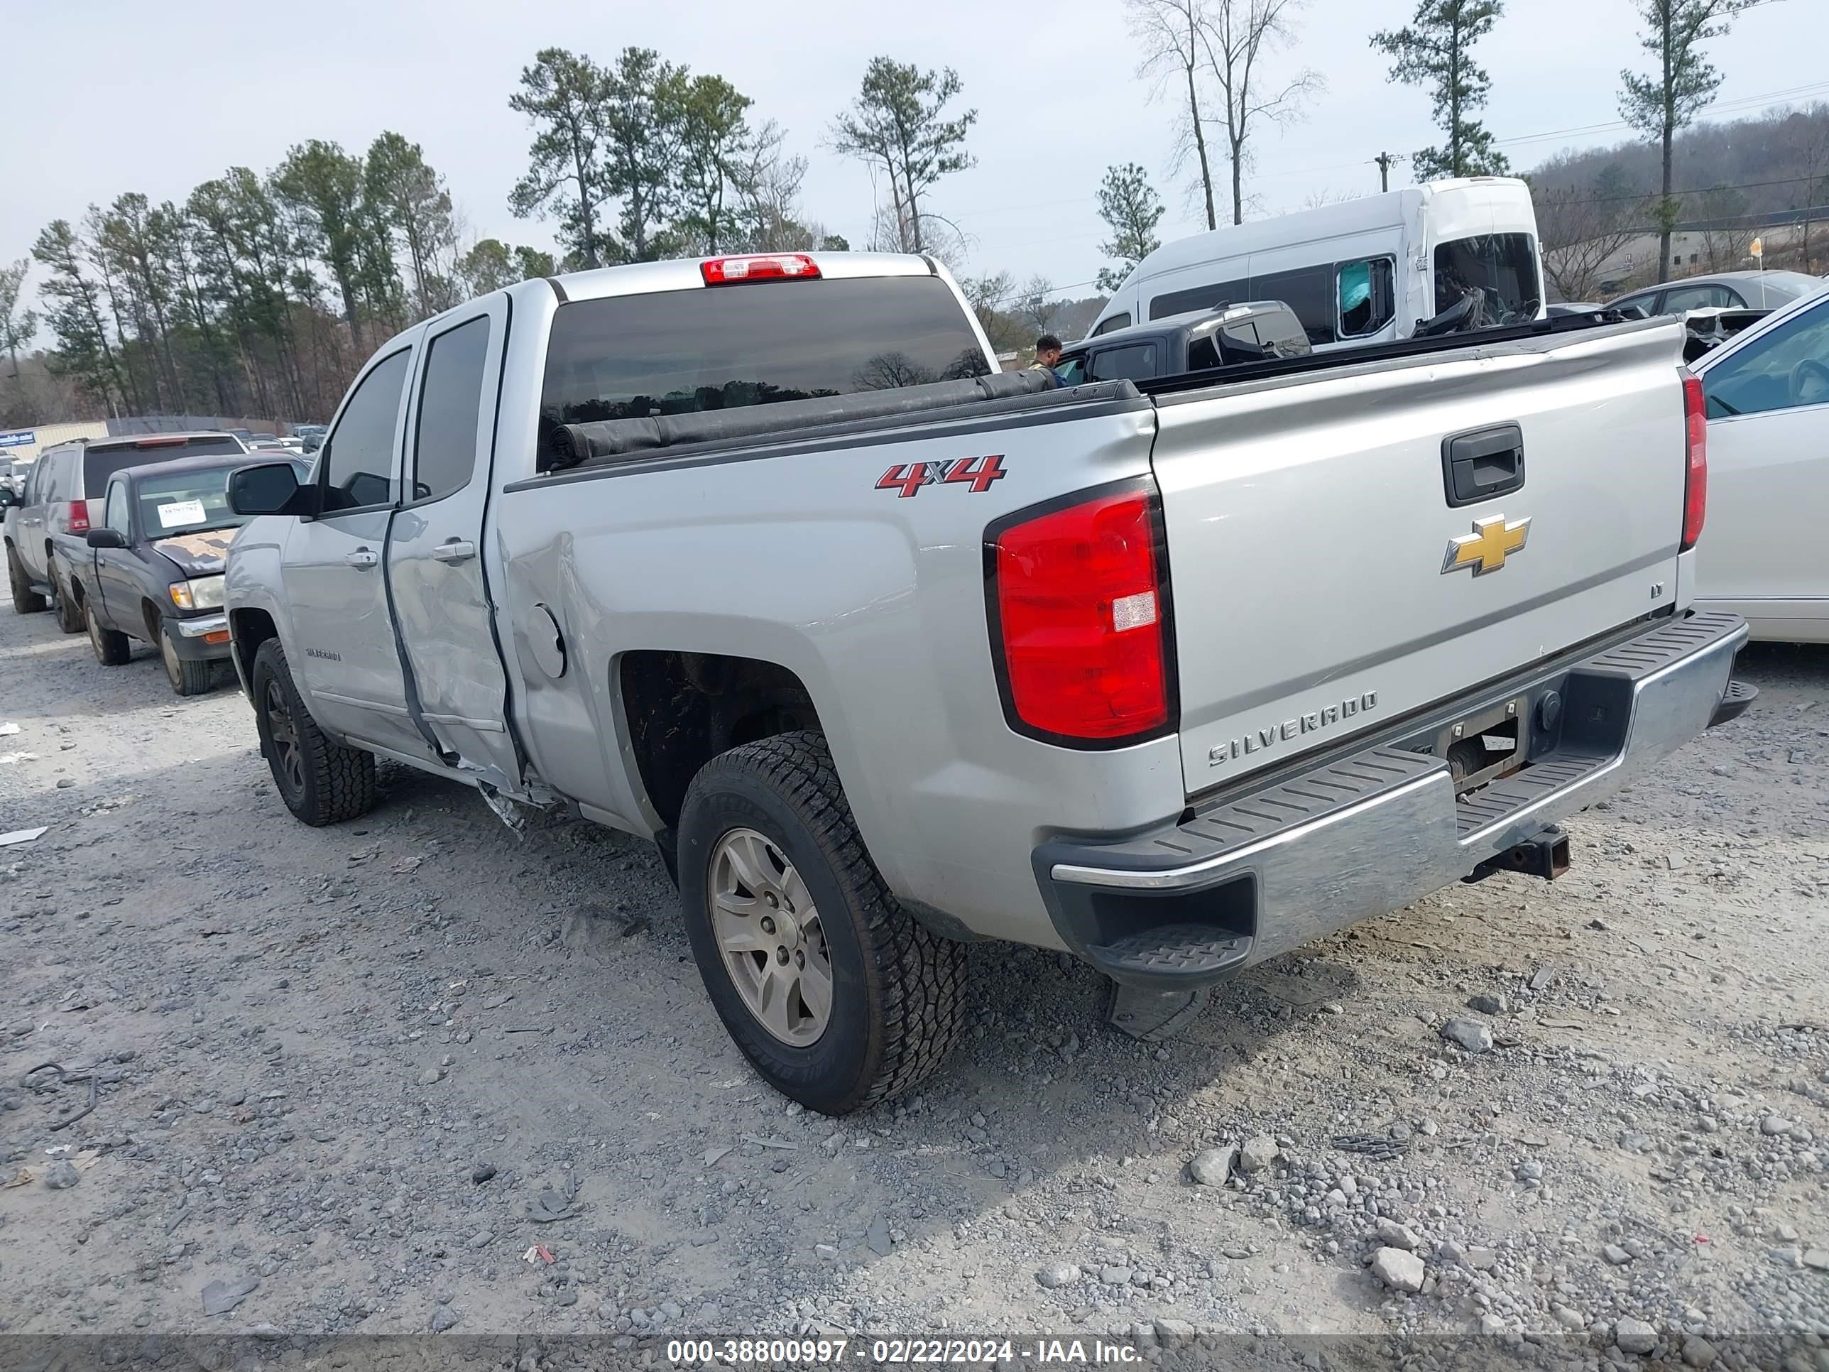
<path fill-rule="evenodd" d="M 408 397 L 406 501 L 393 520 L 393 609 L 421 717 L 459 766 L 518 790 L 507 732 L 508 684 L 496 649 L 483 512 L 496 441 L 496 395 L 508 296 L 441 320 L 419 348 Z"/>

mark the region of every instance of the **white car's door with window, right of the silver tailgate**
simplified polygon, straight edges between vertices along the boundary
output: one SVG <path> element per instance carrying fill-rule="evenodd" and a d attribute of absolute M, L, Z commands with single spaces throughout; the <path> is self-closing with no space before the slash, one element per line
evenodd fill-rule
<path fill-rule="evenodd" d="M 1829 298 L 1708 359 L 1708 525 L 1695 595 L 1829 618 Z M 1774 600 L 1807 602 L 1780 611 Z"/>

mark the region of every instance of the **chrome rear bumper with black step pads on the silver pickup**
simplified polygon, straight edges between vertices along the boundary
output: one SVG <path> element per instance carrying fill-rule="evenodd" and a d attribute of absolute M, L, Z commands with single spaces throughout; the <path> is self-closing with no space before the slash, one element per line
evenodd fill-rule
<path fill-rule="evenodd" d="M 1747 624 L 1692 615 L 1428 712 L 1375 746 L 1284 772 L 1119 843 L 1055 840 L 1037 878 L 1068 948 L 1130 986 L 1202 986 L 1386 915 L 1604 799 L 1732 717 Z M 1540 708 L 1555 695 L 1553 726 Z M 1529 761 L 1456 798 L 1443 721 L 1520 701 Z M 1738 710 L 1734 710 L 1738 713 Z"/>

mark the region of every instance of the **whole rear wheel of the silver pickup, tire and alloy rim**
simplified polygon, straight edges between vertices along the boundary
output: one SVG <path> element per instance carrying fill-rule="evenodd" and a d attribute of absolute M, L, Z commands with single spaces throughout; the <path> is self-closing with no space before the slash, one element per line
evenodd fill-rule
<path fill-rule="evenodd" d="M 883 885 L 818 734 L 701 768 L 680 809 L 679 885 L 711 1004 L 781 1094 L 849 1114 L 946 1061 L 966 949 Z"/>

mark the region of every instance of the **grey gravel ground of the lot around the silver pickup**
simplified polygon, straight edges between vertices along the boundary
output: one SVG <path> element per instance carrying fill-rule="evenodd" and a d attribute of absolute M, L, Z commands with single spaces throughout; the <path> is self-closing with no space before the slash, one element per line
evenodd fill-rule
<path fill-rule="evenodd" d="M 230 686 L 0 613 L 0 831 L 49 825 L 0 849 L 0 1330 L 1483 1330 L 1829 1372 L 1829 649 L 1743 675 L 1555 885 L 1304 948 L 1163 1048 L 1085 968 L 975 948 L 955 1063 L 832 1121 L 728 1043 L 649 849 L 391 768 L 305 829 Z"/>

